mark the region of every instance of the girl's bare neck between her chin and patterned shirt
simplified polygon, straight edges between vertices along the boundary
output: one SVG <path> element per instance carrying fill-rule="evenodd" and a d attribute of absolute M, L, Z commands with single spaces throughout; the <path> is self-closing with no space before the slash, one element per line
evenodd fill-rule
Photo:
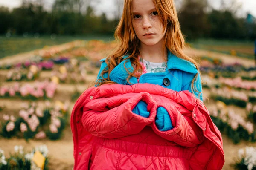
<path fill-rule="evenodd" d="M 149 62 L 162 63 L 167 61 L 167 49 L 163 49 L 163 42 L 147 46 L 140 42 L 140 55 Z"/>

